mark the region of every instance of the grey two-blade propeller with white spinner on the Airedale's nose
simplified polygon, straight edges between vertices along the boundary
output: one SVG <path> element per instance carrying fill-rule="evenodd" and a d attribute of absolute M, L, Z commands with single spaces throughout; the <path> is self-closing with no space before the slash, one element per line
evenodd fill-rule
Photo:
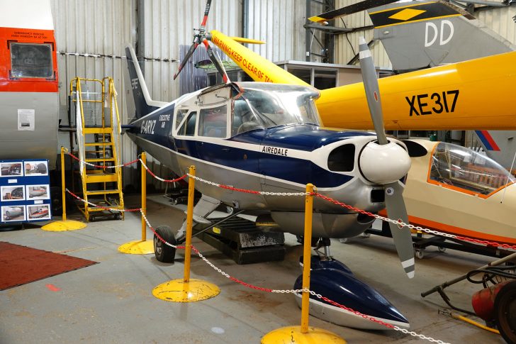
<path fill-rule="evenodd" d="M 359 162 L 360 170 L 370 182 L 383 184 L 388 217 L 408 223 L 407 209 L 402 195 L 403 186 L 399 179 L 407 174 L 410 168 L 410 157 L 408 152 L 399 145 L 387 140 L 383 130 L 380 89 L 378 79 L 376 79 L 373 57 L 363 37 L 360 38 L 359 44 L 360 68 L 366 89 L 367 104 L 378 138 L 377 143 L 368 143 L 362 150 Z M 408 277 L 412 278 L 415 272 L 415 261 L 410 229 L 406 226 L 401 228 L 396 223 L 389 223 L 389 226 L 401 265 Z"/>

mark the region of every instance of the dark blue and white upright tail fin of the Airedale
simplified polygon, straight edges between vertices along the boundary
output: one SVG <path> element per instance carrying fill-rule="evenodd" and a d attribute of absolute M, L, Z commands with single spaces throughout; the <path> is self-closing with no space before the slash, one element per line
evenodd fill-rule
<path fill-rule="evenodd" d="M 135 50 L 130 45 L 125 47 L 125 56 L 127 57 L 127 68 L 124 71 L 125 89 L 132 89 L 133 92 L 128 92 L 127 107 L 128 118 L 141 118 L 156 109 L 166 105 L 162 101 L 153 101 L 150 98 L 147 84 L 143 78 L 142 70 L 138 64 Z"/>

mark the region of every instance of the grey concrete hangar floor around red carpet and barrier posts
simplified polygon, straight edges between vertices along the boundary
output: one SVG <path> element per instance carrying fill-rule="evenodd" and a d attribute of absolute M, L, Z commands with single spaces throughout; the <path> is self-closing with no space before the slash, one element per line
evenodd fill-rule
<path fill-rule="evenodd" d="M 150 197 L 160 199 L 161 196 Z M 138 198 L 126 206 L 139 207 Z M 152 226 L 179 228 L 184 213 L 166 204 L 148 201 Z M 74 217 L 74 216 L 69 216 Z M 80 219 L 81 216 L 75 216 Z M 32 248 L 94 260 L 100 264 L 49 277 L 0 292 L 0 343 L 259 343 L 269 331 L 299 325 L 301 311 L 294 296 L 247 289 L 192 258 L 191 278 L 217 284 L 220 295 L 206 301 L 176 304 L 152 296 L 158 284 L 183 276 L 182 251 L 175 264 L 158 262 L 154 255 L 125 255 L 118 246 L 140 239 L 140 218 L 127 213 L 125 221 L 99 221 L 69 232 L 41 231 L 31 226 L 1 231 L 0 240 Z M 152 238 L 147 229 L 147 238 Z M 291 289 L 301 274 L 302 246 L 286 235 L 286 259 L 237 265 L 211 246 L 194 245 L 228 274 L 271 289 Z M 446 304 L 420 293 L 493 259 L 429 248 L 416 260 L 416 277 L 409 280 L 391 239 L 378 236 L 334 240 L 332 255 L 375 287 L 410 321 L 411 330 L 449 343 L 505 343 L 499 336 L 442 314 Z M 1 278 L 1 272 L 0 272 Z M 59 288 L 52 291 L 52 284 Z M 461 282 L 447 288 L 451 301 L 471 309 L 478 285 Z M 430 343 L 396 331 L 358 331 L 310 316 L 310 326 L 337 333 L 348 343 Z"/>

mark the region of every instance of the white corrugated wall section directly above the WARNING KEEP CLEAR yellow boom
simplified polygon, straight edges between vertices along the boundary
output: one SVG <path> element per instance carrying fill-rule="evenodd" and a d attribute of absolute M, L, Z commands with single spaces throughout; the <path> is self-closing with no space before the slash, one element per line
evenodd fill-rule
<path fill-rule="evenodd" d="M 305 60 L 306 1 L 249 0 L 247 38 L 264 40 L 249 48 L 273 62 Z"/>

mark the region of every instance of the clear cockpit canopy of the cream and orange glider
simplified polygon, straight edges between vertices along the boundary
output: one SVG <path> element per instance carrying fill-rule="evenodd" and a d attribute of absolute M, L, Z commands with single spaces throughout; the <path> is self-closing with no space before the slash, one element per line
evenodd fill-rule
<path fill-rule="evenodd" d="M 515 177 L 485 155 L 451 143 L 439 143 L 432 153 L 428 182 L 486 198 Z"/>

